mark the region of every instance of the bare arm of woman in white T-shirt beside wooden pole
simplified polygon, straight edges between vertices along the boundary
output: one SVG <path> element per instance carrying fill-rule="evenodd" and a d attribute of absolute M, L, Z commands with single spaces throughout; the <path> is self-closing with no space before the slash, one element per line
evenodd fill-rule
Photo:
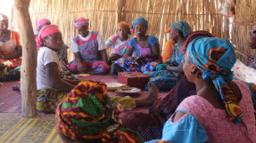
<path fill-rule="evenodd" d="M 45 66 L 47 80 L 50 86 L 58 91 L 71 91 L 75 86 L 65 82 L 59 75 L 58 65 L 51 62 Z"/>

